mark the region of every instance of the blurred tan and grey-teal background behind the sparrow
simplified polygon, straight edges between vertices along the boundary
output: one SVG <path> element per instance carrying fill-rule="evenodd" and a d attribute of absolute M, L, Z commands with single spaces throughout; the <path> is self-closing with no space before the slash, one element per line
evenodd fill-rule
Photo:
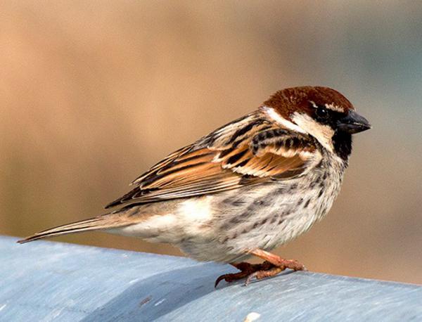
<path fill-rule="evenodd" d="M 0 234 L 101 214 L 274 91 L 323 85 L 373 129 L 328 217 L 276 253 L 422 283 L 422 2 L 6 0 L 0 44 Z M 56 240 L 180 255 L 104 233 Z"/>

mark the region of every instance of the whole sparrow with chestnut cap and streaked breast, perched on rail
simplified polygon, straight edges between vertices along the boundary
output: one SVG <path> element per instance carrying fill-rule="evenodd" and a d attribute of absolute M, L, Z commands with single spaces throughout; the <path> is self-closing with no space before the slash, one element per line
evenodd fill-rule
<path fill-rule="evenodd" d="M 238 269 L 219 276 L 215 287 L 302 271 L 303 264 L 271 250 L 326 216 L 343 183 L 352 135 L 370 128 L 334 89 L 282 89 L 153 165 L 106 206 L 110 212 L 18 243 L 84 231 L 169 243 L 198 261 Z M 264 262 L 244 262 L 251 256 Z"/>

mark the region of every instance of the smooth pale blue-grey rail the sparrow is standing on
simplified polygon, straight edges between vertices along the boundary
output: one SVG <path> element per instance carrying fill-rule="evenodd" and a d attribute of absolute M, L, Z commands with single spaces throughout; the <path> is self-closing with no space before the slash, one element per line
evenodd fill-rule
<path fill-rule="evenodd" d="M 422 287 L 0 236 L 0 321 L 422 321 Z M 248 317 L 248 319 L 247 319 Z"/>

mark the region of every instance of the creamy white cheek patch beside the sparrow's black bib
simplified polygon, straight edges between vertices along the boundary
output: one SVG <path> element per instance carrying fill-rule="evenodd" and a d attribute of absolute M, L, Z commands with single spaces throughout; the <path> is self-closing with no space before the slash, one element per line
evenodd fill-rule
<path fill-rule="evenodd" d="M 307 114 L 295 112 L 292 117 L 293 121 L 299 127 L 304 129 L 308 134 L 314 136 L 324 148 L 333 152 L 333 135 L 334 130 L 328 125 L 319 124 Z"/>

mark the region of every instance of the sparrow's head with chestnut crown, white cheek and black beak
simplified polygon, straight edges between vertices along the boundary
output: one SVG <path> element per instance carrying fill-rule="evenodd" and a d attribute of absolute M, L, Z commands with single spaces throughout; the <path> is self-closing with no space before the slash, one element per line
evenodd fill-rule
<path fill-rule="evenodd" d="M 351 152 L 352 134 L 371 128 L 345 96 L 328 87 L 277 91 L 264 102 L 262 110 L 283 127 L 313 136 L 321 146 L 343 158 Z"/>

